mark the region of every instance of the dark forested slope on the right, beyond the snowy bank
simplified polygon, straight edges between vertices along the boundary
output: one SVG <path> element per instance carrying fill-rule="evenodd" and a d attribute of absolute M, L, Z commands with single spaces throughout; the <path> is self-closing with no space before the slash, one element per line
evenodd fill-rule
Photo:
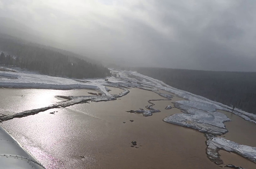
<path fill-rule="evenodd" d="M 256 114 L 256 72 L 136 68 L 139 73 L 211 100 Z"/>

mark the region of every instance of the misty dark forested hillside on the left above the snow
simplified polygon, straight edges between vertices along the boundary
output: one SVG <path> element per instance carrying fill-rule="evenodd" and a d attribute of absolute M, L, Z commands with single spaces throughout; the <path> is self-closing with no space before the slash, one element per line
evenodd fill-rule
<path fill-rule="evenodd" d="M 12 65 L 40 74 L 67 78 L 102 78 L 108 68 L 87 62 L 76 54 L 51 50 L 20 39 L 0 37 L 0 65 Z"/>

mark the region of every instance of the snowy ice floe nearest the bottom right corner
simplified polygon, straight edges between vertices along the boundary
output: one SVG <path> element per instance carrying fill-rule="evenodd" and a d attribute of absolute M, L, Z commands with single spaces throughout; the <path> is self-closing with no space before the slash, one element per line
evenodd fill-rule
<path fill-rule="evenodd" d="M 243 156 L 250 161 L 256 163 L 256 147 L 250 147 L 247 145 L 241 145 L 230 140 L 226 140 L 222 137 L 216 137 L 212 135 L 206 135 L 207 149 L 206 153 L 208 158 L 216 164 L 222 164 L 223 161 L 220 158 L 219 150 L 226 150 Z"/>

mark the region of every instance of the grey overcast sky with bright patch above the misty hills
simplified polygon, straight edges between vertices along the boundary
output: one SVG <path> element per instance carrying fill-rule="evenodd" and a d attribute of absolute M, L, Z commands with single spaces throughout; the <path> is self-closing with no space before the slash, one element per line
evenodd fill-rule
<path fill-rule="evenodd" d="M 0 0 L 0 16 L 116 64 L 256 71 L 256 0 Z"/>

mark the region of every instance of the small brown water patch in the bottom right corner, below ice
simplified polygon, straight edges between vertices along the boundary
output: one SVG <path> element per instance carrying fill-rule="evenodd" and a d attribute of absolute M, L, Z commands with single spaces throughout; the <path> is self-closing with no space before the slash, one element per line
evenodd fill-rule
<path fill-rule="evenodd" d="M 219 154 L 221 155 L 221 159 L 224 162 L 224 165 L 222 165 L 222 166 L 225 166 L 227 164 L 233 164 L 238 167 L 243 167 L 244 169 L 255 169 L 256 168 L 255 163 L 253 163 L 253 162 L 247 160 L 246 158 L 243 158 L 242 156 L 239 156 L 235 153 L 229 153 L 227 151 L 220 150 Z"/>

